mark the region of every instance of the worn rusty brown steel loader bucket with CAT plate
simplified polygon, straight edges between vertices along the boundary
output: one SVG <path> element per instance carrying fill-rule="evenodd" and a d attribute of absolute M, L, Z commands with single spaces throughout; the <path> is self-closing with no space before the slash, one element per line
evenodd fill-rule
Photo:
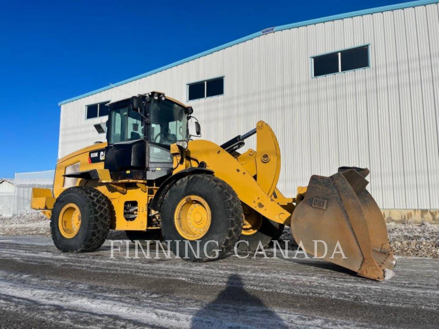
<path fill-rule="evenodd" d="M 291 231 L 307 254 L 384 280 L 396 261 L 383 215 L 366 190 L 368 174 L 367 168 L 341 167 L 330 177 L 311 176 L 306 193 L 296 198 Z"/>

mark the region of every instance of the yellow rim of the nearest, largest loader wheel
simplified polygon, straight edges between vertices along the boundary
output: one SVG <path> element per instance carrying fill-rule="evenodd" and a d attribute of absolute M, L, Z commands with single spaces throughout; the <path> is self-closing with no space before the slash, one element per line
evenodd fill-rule
<path fill-rule="evenodd" d="M 184 239 L 198 240 L 209 230 L 212 221 L 209 204 L 197 195 L 188 195 L 178 204 L 174 213 L 175 227 Z"/>

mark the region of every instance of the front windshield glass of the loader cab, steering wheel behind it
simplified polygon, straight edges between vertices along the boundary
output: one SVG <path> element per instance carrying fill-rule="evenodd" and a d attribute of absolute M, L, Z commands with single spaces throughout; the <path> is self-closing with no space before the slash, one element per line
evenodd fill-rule
<path fill-rule="evenodd" d="M 171 145 L 177 140 L 187 139 L 185 109 L 171 100 L 159 98 L 151 101 L 150 122 L 150 142 Z"/>

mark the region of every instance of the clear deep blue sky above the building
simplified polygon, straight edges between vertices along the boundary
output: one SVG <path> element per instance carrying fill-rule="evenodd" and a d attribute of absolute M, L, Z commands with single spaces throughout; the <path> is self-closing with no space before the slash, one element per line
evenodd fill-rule
<path fill-rule="evenodd" d="M 401 2 L 0 0 L 0 178 L 55 167 L 61 100 L 270 26 Z"/>

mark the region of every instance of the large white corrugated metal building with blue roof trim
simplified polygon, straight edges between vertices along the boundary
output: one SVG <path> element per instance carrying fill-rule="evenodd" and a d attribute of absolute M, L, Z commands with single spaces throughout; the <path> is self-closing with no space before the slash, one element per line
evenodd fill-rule
<path fill-rule="evenodd" d="M 366 64 L 351 69 L 348 55 L 362 47 Z M 191 83 L 218 77 L 222 95 L 188 100 Z M 105 139 L 93 125 L 106 118 L 86 119 L 87 105 L 160 90 L 193 106 L 203 138 L 216 143 L 269 123 L 281 146 L 279 188 L 289 196 L 312 174 L 355 165 L 371 169 L 381 208 L 439 208 L 435 1 L 266 29 L 115 86 L 60 103 L 59 157 Z"/>

